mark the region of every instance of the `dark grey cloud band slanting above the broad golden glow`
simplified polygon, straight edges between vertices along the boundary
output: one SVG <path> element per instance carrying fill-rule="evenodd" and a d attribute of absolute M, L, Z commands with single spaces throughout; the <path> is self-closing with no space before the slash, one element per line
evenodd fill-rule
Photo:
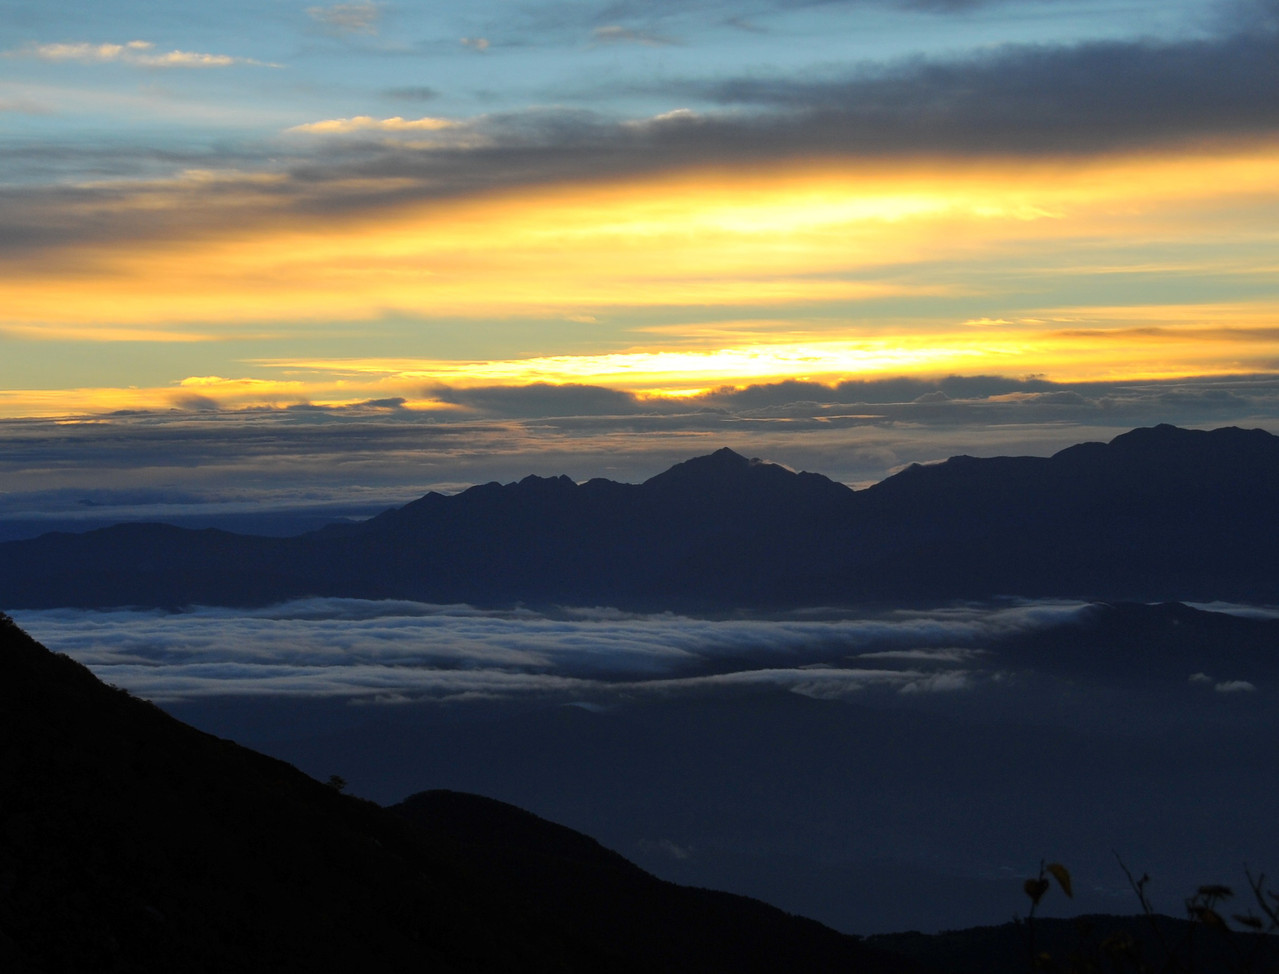
<path fill-rule="evenodd" d="M 225 158 L 202 153 L 205 167 L 256 166 L 272 174 L 266 180 L 229 174 L 192 187 L 73 188 L 28 178 L 20 189 L 0 190 L 0 249 L 27 254 L 72 242 L 164 239 L 192 225 L 216 233 L 267 216 L 279 220 L 281 212 L 334 216 L 689 167 L 824 156 L 1079 157 L 1267 141 L 1279 135 L 1279 17 L 1270 4 L 1241 10 L 1230 29 L 1192 41 L 1008 45 L 950 60 L 835 66 L 806 78 L 665 79 L 643 86 L 643 93 L 673 107 L 702 107 L 647 121 L 532 109 L 458 121 L 431 138 L 365 133 L 239 147 Z M 78 162 L 55 147 L 17 146 L 0 161 L 33 174 L 36 160 L 26 157 L 32 151 L 52 153 L 55 166 L 92 165 L 118 176 L 146 176 L 165 166 L 155 151 L 137 146 L 96 148 L 93 158 Z M 40 165 L 47 167 L 47 160 Z M 169 165 L 192 162 L 174 157 Z M 150 197 L 182 205 L 143 205 Z"/>

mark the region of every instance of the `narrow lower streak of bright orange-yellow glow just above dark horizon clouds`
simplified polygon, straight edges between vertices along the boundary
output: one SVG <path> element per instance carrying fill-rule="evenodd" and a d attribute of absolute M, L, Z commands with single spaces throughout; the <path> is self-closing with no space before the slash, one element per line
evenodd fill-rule
<path fill-rule="evenodd" d="M 1247 317 L 1248 309 L 1236 311 Z M 464 414 L 464 406 L 432 399 L 428 390 L 435 385 L 592 383 L 640 396 L 680 398 L 785 378 L 834 385 L 852 376 L 1030 375 L 1042 372 L 1045 360 L 1053 363 L 1048 377 L 1058 382 L 1138 381 L 1273 371 L 1279 357 L 1279 327 L 1274 325 L 1095 327 L 1076 320 L 1040 322 L 1036 330 L 1013 327 L 1003 334 L 993 327 L 975 331 L 959 326 L 945 334 L 903 332 L 857 340 L 831 340 L 825 334 L 788 337 L 788 341 L 761 339 L 714 349 L 666 348 L 503 360 L 258 360 L 257 368 L 290 378 L 192 376 L 157 389 L 0 391 L 0 417 L 200 409 L 202 404 L 269 408 L 304 401 L 350 406 L 393 396 L 405 399 L 408 409 Z M 1269 355 L 1269 360 L 1259 355 Z"/>

